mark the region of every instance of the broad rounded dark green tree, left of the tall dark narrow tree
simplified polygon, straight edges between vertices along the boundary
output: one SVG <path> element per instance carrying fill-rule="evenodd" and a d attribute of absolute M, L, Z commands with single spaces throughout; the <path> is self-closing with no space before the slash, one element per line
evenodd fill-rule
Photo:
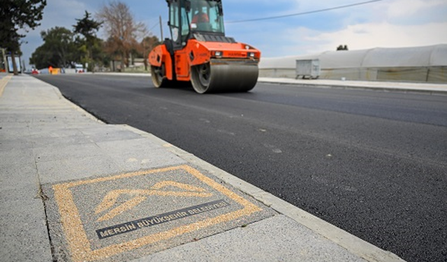
<path fill-rule="evenodd" d="M 64 27 L 54 27 L 47 31 L 41 31 L 43 45 L 38 47 L 31 58 L 30 64 L 37 68 L 67 67 L 80 57 L 80 52 L 75 45 L 74 34 Z"/>

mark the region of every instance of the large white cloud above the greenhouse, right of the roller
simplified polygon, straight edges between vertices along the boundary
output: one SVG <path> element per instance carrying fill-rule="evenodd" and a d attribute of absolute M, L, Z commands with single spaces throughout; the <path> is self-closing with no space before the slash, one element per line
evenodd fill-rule
<path fill-rule="evenodd" d="M 342 6 L 360 1 L 318 1 L 312 8 L 309 1 L 295 1 L 301 10 L 316 10 Z M 256 39 L 266 57 L 315 54 L 335 50 L 338 45 L 348 45 L 350 50 L 368 48 L 401 48 L 447 43 L 447 10 L 445 0 L 387 0 L 370 3 L 362 8 L 337 10 L 339 20 L 332 29 L 300 24 L 283 27 L 275 38 Z M 291 11 L 293 12 L 293 11 Z M 310 20 L 308 20 L 310 21 Z M 277 21 L 279 22 L 279 21 Z M 313 28 L 313 29 L 312 29 Z M 268 43 L 271 43 L 268 45 Z M 276 48 L 278 44 L 281 48 Z"/>

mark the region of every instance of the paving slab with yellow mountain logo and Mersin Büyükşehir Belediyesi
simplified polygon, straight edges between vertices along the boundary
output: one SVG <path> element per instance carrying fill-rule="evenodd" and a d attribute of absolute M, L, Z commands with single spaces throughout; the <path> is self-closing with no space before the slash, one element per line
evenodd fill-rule
<path fill-rule="evenodd" d="M 54 255 L 69 261 L 138 258 L 276 214 L 191 165 L 44 184 L 43 193 Z"/>

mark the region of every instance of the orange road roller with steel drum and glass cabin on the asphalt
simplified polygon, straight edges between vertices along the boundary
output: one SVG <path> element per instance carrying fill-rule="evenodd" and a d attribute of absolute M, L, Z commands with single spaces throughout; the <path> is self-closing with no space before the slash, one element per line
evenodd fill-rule
<path fill-rule="evenodd" d="M 166 2 L 171 38 L 149 53 L 155 87 L 191 82 L 200 94 L 254 88 L 261 52 L 225 36 L 221 0 Z"/>

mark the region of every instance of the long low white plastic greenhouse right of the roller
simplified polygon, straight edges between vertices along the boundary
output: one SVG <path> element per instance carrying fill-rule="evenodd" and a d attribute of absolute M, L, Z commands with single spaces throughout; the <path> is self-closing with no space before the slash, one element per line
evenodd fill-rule
<path fill-rule="evenodd" d="M 296 78 L 297 61 L 314 59 L 320 62 L 320 79 L 447 82 L 447 44 L 264 58 L 260 75 Z"/>

